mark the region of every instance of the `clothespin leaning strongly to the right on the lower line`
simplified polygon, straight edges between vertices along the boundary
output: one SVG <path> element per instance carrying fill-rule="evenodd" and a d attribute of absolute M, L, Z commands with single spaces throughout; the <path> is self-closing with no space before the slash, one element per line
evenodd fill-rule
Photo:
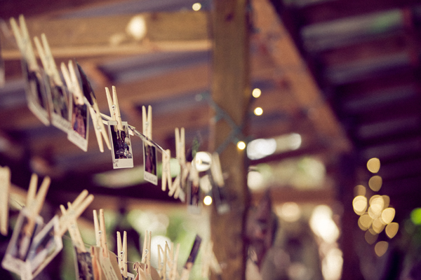
<path fill-rule="evenodd" d="M 67 228 L 69 228 L 74 221 L 77 221 L 77 218 L 81 216 L 83 211 L 88 208 L 89 204 L 93 201 L 93 195 L 88 195 L 88 190 L 83 190 L 78 197 L 74 200 L 74 202 L 71 204 L 72 207 L 70 209 L 72 211 L 66 211 L 65 214 L 63 214 L 60 217 L 59 225 L 60 225 L 60 231 L 59 235 L 62 236 L 67 231 Z M 61 207 L 60 208 L 64 208 Z"/>

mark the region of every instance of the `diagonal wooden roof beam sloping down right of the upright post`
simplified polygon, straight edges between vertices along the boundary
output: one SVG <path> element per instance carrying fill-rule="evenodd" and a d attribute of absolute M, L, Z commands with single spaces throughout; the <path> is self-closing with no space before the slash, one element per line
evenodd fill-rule
<path fill-rule="evenodd" d="M 260 30 L 262 42 L 267 45 L 276 65 L 283 70 L 283 80 L 289 85 L 290 92 L 302 111 L 307 112 L 314 123 L 319 137 L 329 141 L 335 153 L 349 151 L 351 144 L 345 132 L 327 102 L 323 100 L 316 81 L 274 8 L 267 0 L 253 0 L 252 5 L 255 27 Z"/>

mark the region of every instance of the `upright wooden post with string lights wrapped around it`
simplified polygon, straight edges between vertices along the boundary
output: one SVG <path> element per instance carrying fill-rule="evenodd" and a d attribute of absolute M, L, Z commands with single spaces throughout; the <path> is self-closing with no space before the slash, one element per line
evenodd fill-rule
<path fill-rule="evenodd" d="M 247 123 L 250 99 L 248 1 L 216 0 L 213 3 L 212 98 L 215 106 L 241 127 Z M 234 143 L 232 123 L 221 118 L 218 110 L 214 113 L 209 148 L 220 153 L 222 172 L 228 174 L 225 188 L 231 211 L 226 214 L 213 211 L 211 238 L 216 258 L 222 264 L 222 279 L 245 279 L 247 246 L 243 232 L 249 204 L 245 150 L 240 151 Z M 241 127 L 241 132 L 244 133 L 244 129 Z M 230 138 L 232 141 L 225 146 Z"/>

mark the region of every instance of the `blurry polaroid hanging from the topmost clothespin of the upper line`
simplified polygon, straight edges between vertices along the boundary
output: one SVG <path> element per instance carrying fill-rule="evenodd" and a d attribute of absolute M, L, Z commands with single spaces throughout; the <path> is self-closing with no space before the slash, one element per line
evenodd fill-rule
<path fill-rule="evenodd" d="M 22 59 L 22 71 L 25 78 L 25 92 L 28 108 L 44 125 L 50 125 L 46 75 L 42 71 L 31 71 L 25 59 Z"/>

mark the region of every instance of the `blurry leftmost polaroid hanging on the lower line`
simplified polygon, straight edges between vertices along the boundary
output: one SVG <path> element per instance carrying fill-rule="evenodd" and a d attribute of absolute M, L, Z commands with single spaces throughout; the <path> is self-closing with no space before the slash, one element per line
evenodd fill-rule
<path fill-rule="evenodd" d="M 34 230 L 32 236 L 29 237 L 25 232 L 27 231 L 28 226 L 32 226 L 32 223 L 34 223 Z M 7 246 L 6 253 L 1 262 L 1 267 L 19 275 L 27 275 L 30 273 L 29 267 L 25 261 L 34 236 L 42 228 L 42 225 L 43 219 L 41 216 L 36 216 L 35 220 L 33 220 L 26 208 L 23 208 L 20 211 L 11 241 Z"/>

